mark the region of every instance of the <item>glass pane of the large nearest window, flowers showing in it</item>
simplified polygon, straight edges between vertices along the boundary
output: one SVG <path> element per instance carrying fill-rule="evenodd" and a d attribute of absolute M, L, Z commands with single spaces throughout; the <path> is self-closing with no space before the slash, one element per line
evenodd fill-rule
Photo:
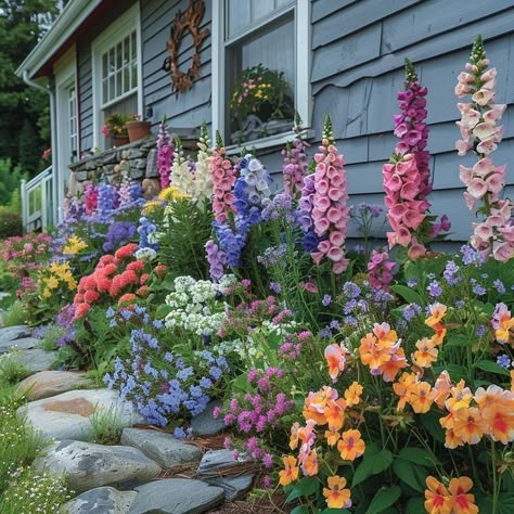
<path fill-rule="evenodd" d="M 290 130 L 295 103 L 293 13 L 231 44 L 227 66 L 226 137 L 240 143 Z"/>

